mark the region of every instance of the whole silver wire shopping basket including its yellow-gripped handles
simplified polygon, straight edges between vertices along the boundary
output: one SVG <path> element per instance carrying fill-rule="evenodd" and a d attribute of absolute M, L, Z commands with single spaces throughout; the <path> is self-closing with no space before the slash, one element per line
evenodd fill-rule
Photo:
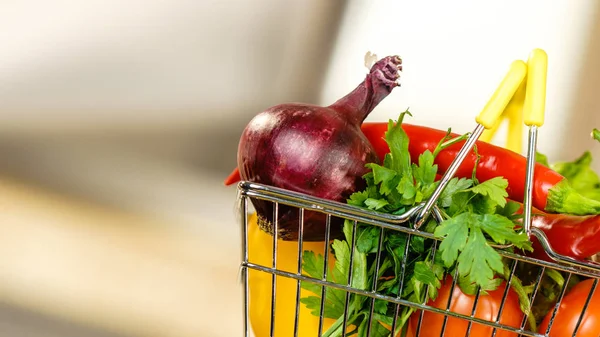
<path fill-rule="evenodd" d="M 536 58 L 540 58 L 541 60 L 537 60 Z M 536 63 L 537 62 L 537 63 Z M 259 314 L 259 317 L 254 317 L 255 320 L 252 324 L 256 324 L 256 320 L 260 320 L 260 323 L 266 327 L 261 332 L 264 336 L 307 336 L 305 332 L 302 332 L 303 323 L 300 317 L 300 312 L 302 311 L 303 304 L 300 301 L 302 290 L 302 283 L 308 282 L 314 285 L 317 285 L 321 289 L 320 294 L 320 310 L 318 315 L 314 315 L 314 320 L 312 320 L 311 324 L 315 324 L 315 329 L 311 330 L 314 332 L 314 336 L 321 336 L 324 332 L 324 327 L 326 325 L 327 318 L 324 317 L 324 308 L 326 302 L 327 289 L 337 289 L 341 290 L 345 294 L 345 306 L 344 306 L 344 315 L 343 322 L 341 325 L 342 328 L 342 336 L 346 334 L 351 334 L 352 332 L 356 332 L 355 329 L 347 326 L 348 323 L 348 307 L 350 305 L 349 298 L 350 294 L 360 295 L 367 298 L 370 301 L 370 316 L 369 323 L 367 324 L 366 336 L 371 336 L 371 321 L 373 319 L 374 307 L 376 301 L 385 301 L 386 303 L 395 306 L 395 312 L 398 312 L 401 307 L 410 307 L 416 309 L 416 313 L 419 316 L 418 322 L 416 326 L 416 336 L 421 336 L 421 324 L 423 323 L 423 315 L 425 312 L 436 313 L 439 315 L 443 315 L 443 325 L 440 331 L 440 336 L 451 336 L 446 333 L 446 325 L 451 320 L 460 320 L 461 322 L 467 325 L 466 333 L 463 335 L 471 336 L 472 328 L 476 325 L 478 326 L 486 326 L 489 327 L 491 334 L 490 336 L 497 335 L 506 335 L 507 333 L 510 336 L 548 336 L 549 331 L 551 331 L 554 317 L 558 308 L 561 305 L 561 301 L 567 292 L 567 287 L 569 285 L 569 281 L 572 278 L 590 278 L 593 280 L 593 285 L 589 294 L 587 295 L 587 299 L 585 301 L 585 305 L 581 310 L 581 315 L 579 320 L 577 321 L 577 325 L 573 331 L 572 336 L 577 335 L 577 331 L 579 330 L 583 317 L 588 308 L 588 304 L 592 300 L 594 296 L 594 292 L 600 279 L 600 265 L 597 265 L 591 261 L 585 260 L 577 260 L 567 256 L 562 256 L 557 254 L 552 249 L 550 243 L 548 242 L 545 234 L 537 229 L 532 228 L 530 226 L 531 220 L 531 187 L 533 181 L 533 165 L 535 159 L 536 152 L 536 141 L 537 141 L 537 128 L 541 126 L 543 123 L 543 109 L 544 109 L 544 100 L 545 100 L 545 76 L 546 76 L 546 63 L 545 63 L 545 53 L 539 49 L 534 50 L 529 59 L 529 70 L 523 70 L 522 67 L 525 64 L 524 62 L 515 62 L 511 68 L 511 71 L 504 78 L 501 85 L 498 87 L 494 96 L 488 103 L 488 105 L 484 108 L 484 111 L 480 114 L 477 119 L 477 127 L 470 134 L 470 136 L 465 141 L 461 151 L 455 158 L 454 162 L 444 176 L 441 178 L 440 184 L 437 189 L 433 192 L 432 196 L 418 205 L 407 211 L 404 214 L 400 215 L 391 215 L 384 214 L 377 211 L 367 210 L 364 208 L 359 208 L 356 206 L 316 198 L 314 196 L 306 195 L 303 193 L 298 193 L 294 191 L 284 190 L 281 188 L 276 188 L 272 186 L 262 185 L 258 183 L 242 181 L 238 184 L 238 201 L 239 201 L 239 212 L 240 212 L 240 224 L 242 228 L 242 261 L 241 261 L 241 275 L 243 280 L 243 294 L 244 294 L 244 336 L 252 336 L 252 326 L 251 326 L 251 312 L 250 307 L 252 305 L 250 300 L 250 295 L 253 287 L 253 279 L 250 277 L 251 273 L 255 275 L 261 275 L 262 281 L 268 280 L 268 291 L 262 289 L 260 293 L 253 294 L 254 298 L 260 297 L 260 299 L 266 303 L 268 303 L 268 310 L 263 311 Z M 525 74 L 527 73 L 527 74 Z M 526 77 L 526 82 L 524 82 L 524 78 Z M 525 86 L 521 85 L 522 83 L 526 83 Z M 352 231 L 352 239 L 350 241 L 350 256 L 349 256 L 349 264 L 353 265 L 354 251 L 356 246 L 356 228 L 357 226 L 374 226 L 379 228 L 380 240 L 379 246 L 377 247 L 377 258 L 381 255 L 382 245 L 381 238 L 383 238 L 384 232 L 394 232 L 394 233 L 402 233 L 406 236 L 407 242 L 410 243 L 411 240 L 415 238 L 423 238 L 424 240 L 431 240 L 432 249 L 435 250 L 439 247 L 439 241 L 436 239 L 431 233 L 420 230 L 420 224 L 423 221 L 431 216 L 436 221 L 442 221 L 442 215 L 436 208 L 437 198 L 440 196 L 442 190 L 445 188 L 446 184 L 453 177 L 456 172 L 456 169 L 461 164 L 462 160 L 466 156 L 466 154 L 472 150 L 472 147 L 475 141 L 481 136 L 484 129 L 494 129 L 497 127 L 496 120 L 506 111 L 507 106 L 518 104 L 513 97 L 516 97 L 515 93 L 519 88 L 525 90 L 527 89 L 528 95 L 529 92 L 533 94 L 529 95 L 524 100 L 524 115 L 525 115 L 525 124 L 529 126 L 529 139 L 528 139 L 528 147 L 527 147 L 527 177 L 525 179 L 525 197 L 524 197 L 524 226 L 523 230 L 527 231 L 531 236 L 534 236 L 539 240 L 541 246 L 546 251 L 548 256 L 552 259 L 552 261 L 535 259 L 532 257 L 524 256 L 521 254 L 517 254 L 511 252 L 506 247 L 496 246 L 495 249 L 497 252 L 505 258 L 509 262 L 510 270 L 506 277 L 506 283 L 509 285 L 505 287 L 502 293 L 502 299 L 500 302 L 499 308 L 497 308 L 497 313 L 494 318 L 486 320 L 476 317 L 475 312 L 477 309 L 477 305 L 481 296 L 480 291 L 476 292 L 475 300 L 473 303 L 473 308 L 470 313 L 457 313 L 450 310 L 451 303 L 448 301 L 445 308 L 439 308 L 429 305 L 428 303 L 422 302 L 412 302 L 406 299 L 403 299 L 400 295 L 398 297 L 392 297 L 389 295 L 383 295 L 378 293 L 375 290 L 377 289 L 378 278 L 374 277 L 374 284 L 372 287 L 368 289 L 360 289 L 352 286 L 352 271 L 353 268 L 350 268 L 348 279 L 346 283 L 333 282 L 330 278 L 328 278 L 328 273 L 331 270 L 328 268 L 329 261 L 332 257 L 329 256 L 329 244 L 330 244 L 330 233 L 331 233 L 331 223 L 333 218 L 341 218 L 346 221 L 349 221 L 353 226 Z M 537 101 L 537 102 L 536 102 Z M 519 138 L 520 139 L 520 138 Z M 252 221 L 252 212 L 251 212 L 251 199 L 260 199 L 264 202 L 270 202 L 273 204 L 274 211 L 274 229 L 273 235 L 270 238 L 270 246 L 269 251 L 270 254 L 267 259 L 258 259 L 255 260 L 251 257 L 251 247 L 249 247 L 249 232 L 252 230 L 251 221 Z M 281 207 L 295 207 L 299 209 L 299 222 L 298 222 L 298 233 L 299 237 L 297 241 L 293 242 L 284 242 L 278 239 L 277 237 L 277 212 Z M 325 226 L 325 240 L 324 242 L 319 243 L 322 245 L 321 251 L 324 256 L 324 264 L 323 264 L 323 273 L 320 277 L 315 277 L 307 275 L 302 270 L 302 254 L 305 251 L 305 247 L 307 244 L 311 246 L 315 246 L 314 242 L 304 242 L 303 241 L 303 232 L 304 232 L 304 224 L 303 218 L 305 212 L 320 212 L 326 215 L 326 221 L 324 223 Z M 265 233 L 263 233 L 266 235 Z M 282 268 L 278 265 L 278 257 L 280 257 L 280 249 L 286 245 L 285 249 L 287 252 L 292 252 L 296 254 L 298 257 L 297 264 L 293 268 L 287 266 L 286 268 Z M 293 245 L 292 248 L 290 248 Z M 409 244 L 406 244 L 408 249 Z M 402 261 L 402 272 L 400 274 L 400 280 L 404 279 L 404 266 L 406 266 L 408 254 L 403 255 Z M 375 264 L 378 268 L 379 260 Z M 519 266 L 527 265 L 530 267 L 531 272 L 531 284 L 533 285 L 533 290 L 530 293 L 530 302 L 534 303 L 536 301 L 537 296 L 540 295 L 540 284 L 543 283 L 544 278 L 549 277 L 549 271 L 555 271 L 560 273 L 565 282 L 563 283 L 560 291 L 558 292 L 558 297 L 555 300 L 555 304 L 550 308 L 550 312 L 552 312 L 552 316 L 550 319 L 550 323 L 548 324 L 546 331 L 532 331 L 529 325 L 527 324 L 528 317 L 527 314 L 521 319 L 520 326 L 514 325 L 506 325 L 501 322 L 502 312 L 504 310 L 505 303 L 507 301 L 509 288 L 511 282 L 513 281 L 513 276 L 515 275 L 515 271 L 519 268 Z M 375 272 L 377 274 L 377 270 Z M 456 276 L 456 275 L 455 275 Z M 458 287 L 456 281 L 456 277 L 452 281 L 451 285 L 451 293 L 453 292 L 455 287 Z M 254 280 L 258 280 L 255 278 Z M 293 282 L 294 287 L 288 288 L 293 289 L 293 291 L 289 291 L 286 293 L 281 293 L 278 291 L 278 286 L 286 282 L 287 285 Z M 404 285 L 405 286 L 405 285 Z M 402 281 L 400 282 L 400 288 L 402 288 Z M 401 294 L 402 291 L 399 291 Z M 278 297 L 284 297 L 278 298 Z M 291 310 L 285 312 L 288 317 L 286 319 L 281 320 L 281 317 L 276 317 L 281 313 L 277 311 L 277 305 L 280 303 L 291 303 L 288 308 Z M 390 331 L 396 331 L 396 325 L 398 317 L 394 315 L 394 319 L 389 326 Z M 276 334 L 276 331 L 281 331 L 281 327 L 278 327 L 277 324 L 287 324 L 285 327 L 284 334 L 279 333 Z M 264 337 L 263 335 L 257 335 L 256 337 Z M 415 336 L 415 337 L 416 337 Z M 436 334 L 437 336 L 437 334 Z M 475 335 L 472 335 L 475 336 Z M 428 337 L 428 336 L 427 336 Z M 454 337 L 454 336 L 452 336 Z M 565 336 L 567 337 L 567 336 Z"/>

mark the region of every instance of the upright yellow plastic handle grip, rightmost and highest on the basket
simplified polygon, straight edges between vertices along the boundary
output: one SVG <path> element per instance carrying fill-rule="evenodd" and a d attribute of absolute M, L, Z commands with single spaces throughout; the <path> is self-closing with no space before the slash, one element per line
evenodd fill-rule
<path fill-rule="evenodd" d="M 546 74 L 548 55 L 534 49 L 527 60 L 527 90 L 523 103 L 523 121 L 527 126 L 542 126 L 546 109 Z"/>

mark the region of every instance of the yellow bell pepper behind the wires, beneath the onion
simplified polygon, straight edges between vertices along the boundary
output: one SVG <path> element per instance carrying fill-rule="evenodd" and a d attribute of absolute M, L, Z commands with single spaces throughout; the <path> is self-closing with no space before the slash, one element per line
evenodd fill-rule
<path fill-rule="evenodd" d="M 304 242 L 303 250 L 311 250 L 323 255 L 324 242 Z M 272 266 L 273 237 L 258 228 L 256 215 L 248 218 L 248 260 L 251 263 L 266 267 Z M 333 267 L 335 259 L 329 254 L 329 266 Z M 298 271 L 298 242 L 279 240 L 277 243 L 277 269 L 296 273 Z M 249 280 L 249 316 L 252 330 L 256 337 L 266 337 L 271 326 L 271 281 L 272 275 L 250 269 Z M 294 335 L 296 319 L 296 287 L 297 281 L 292 278 L 277 276 L 275 303 L 275 337 Z M 301 289 L 300 297 L 314 295 Z M 298 336 L 318 336 L 319 317 L 311 314 L 306 306 L 300 303 L 298 310 Z M 323 331 L 327 330 L 335 320 L 324 319 Z"/>

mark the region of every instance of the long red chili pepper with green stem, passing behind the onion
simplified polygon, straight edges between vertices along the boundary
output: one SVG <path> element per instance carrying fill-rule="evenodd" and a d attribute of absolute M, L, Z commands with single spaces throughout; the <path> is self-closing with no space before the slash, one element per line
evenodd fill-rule
<path fill-rule="evenodd" d="M 413 162 L 417 162 L 419 155 L 425 150 L 433 152 L 444 137 L 459 136 L 455 133 L 448 135 L 443 130 L 408 123 L 402 123 L 402 128 L 410 139 L 409 152 Z M 384 138 L 388 123 L 365 122 L 361 129 L 375 148 L 377 155 L 383 160 L 385 154 L 390 151 Z M 443 174 L 448 169 L 463 144 L 464 141 L 457 142 L 438 153 L 435 163 L 438 165 L 440 173 Z M 477 141 L 476 146 L 480 156 L 476 178 L 479 181 L 486 181 L 498 176 L 504 177 L 508 181 L 509 198 L 522 202 L 525 193 L 527 159 L 516 152 L 484 141 Z M 477 154 L 471 151 L 459 166 L 455 176 L 470 178 L 476 160 Z M 237 181 L 239 181 L 239 174 L 234 171 L 227 178 L 225 184 L 231 185 Z M 562 175 L 537 163 L 533 180 L 532 203 L 535 208 L 551 213 L 600 214 L 599 201 L 585 198 L 575 191 Z"/>

